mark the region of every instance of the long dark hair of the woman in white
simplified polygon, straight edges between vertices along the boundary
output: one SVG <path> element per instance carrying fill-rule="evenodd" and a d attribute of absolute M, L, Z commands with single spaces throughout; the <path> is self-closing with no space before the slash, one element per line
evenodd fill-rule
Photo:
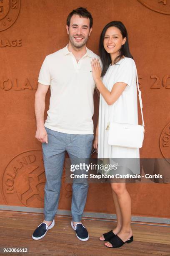
<path fill-rule="evenodd" d="M 122 47 L 120 48 L 119 51 L 119 55 L 115 58 L 114 60 L 114 64 L 116 64 L 117 61 L 119 61 L 122 56 L 124 55 L 125 57 L 129 57 L 133 59 L 133 56 L 130 54 L 130 50 L 129 50 L 129 43 L 128 43 L 128 32 L 125 28 L 125 26 L 123 25 L 123 23 L 121 21 L 111 21 L 110 23 L 108 23 L 102 30 L 102 33 L 100 35 L 100 41 L 99 41 L 99 55 L 100 55 L 100 59 L 102 61 L 102 74 L 101 77 L 103 77 L 111 63 L 111 57 L 110 54 L 107 53 L 107 51 L 105 50 L 104 46 L 103 46 L 103 41 L 104 41 L 104 37 L 105 37 L 105 33 L 107 31 L 107 28 L 110 27 L 116 27 L 120 30 L 122 37 L 125 38 L 126 37 L 126 42 L 125 44 L 122 45 Z"/>

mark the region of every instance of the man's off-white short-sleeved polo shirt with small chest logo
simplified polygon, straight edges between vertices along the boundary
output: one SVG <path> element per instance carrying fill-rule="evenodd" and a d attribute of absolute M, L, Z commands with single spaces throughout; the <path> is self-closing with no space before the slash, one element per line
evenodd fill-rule
<path fill-rule="evenodd" d="M 92 134 L 94 112 L 90 61 L 99 58 L 86 48 L 78 61 L 67 46 L 45 57 L 38 82 L 50 85 L 50 107 L 45 127 L 61 133 Z"/>

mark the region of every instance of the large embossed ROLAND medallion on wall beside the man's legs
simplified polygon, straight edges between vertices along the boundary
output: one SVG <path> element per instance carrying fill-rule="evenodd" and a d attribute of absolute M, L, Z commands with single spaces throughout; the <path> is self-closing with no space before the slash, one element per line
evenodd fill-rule
<path fill-rule="evenodd" d="M 2 178 L 6 204 L 42 207 L 45 181 L 42 151 L 26 151 L 15 156 Z"/>

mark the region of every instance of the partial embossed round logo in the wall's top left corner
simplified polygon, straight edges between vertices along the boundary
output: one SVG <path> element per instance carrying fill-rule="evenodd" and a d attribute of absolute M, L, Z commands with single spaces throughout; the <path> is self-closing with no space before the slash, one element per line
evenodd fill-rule
<path fill-rule="evenodd" d="M 20 0 L 0 0 L 0 31 L 13 25 L 20 12 Z"/>

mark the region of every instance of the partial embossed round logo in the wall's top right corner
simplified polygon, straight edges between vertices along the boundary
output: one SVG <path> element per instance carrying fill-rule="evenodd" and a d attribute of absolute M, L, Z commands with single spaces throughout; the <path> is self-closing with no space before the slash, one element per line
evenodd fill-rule
<path fill-rule="evenodd" d="M 138 0 L 138 2 L 157 13 L 170 15 L 170 0 Z"/>

